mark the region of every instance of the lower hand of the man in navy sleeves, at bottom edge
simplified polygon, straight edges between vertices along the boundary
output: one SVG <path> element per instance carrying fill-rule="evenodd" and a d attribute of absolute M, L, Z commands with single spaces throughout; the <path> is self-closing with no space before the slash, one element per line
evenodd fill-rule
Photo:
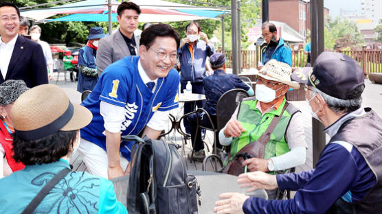
<path fill-rule="evenodd" d="M 224 213 L 244 213 L 243 204 L 249 196 L 243 193 L 221 193 L 218 200 L 215 202 L 214 211 L 218 214 Z"/>

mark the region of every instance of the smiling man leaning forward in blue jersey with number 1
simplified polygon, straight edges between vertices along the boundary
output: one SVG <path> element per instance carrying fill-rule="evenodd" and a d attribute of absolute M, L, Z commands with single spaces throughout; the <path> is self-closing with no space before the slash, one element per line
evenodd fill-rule
<path fill-rule="evenodd" d="M 123 176 L 133 143 L 121 142 L 121 135 L 142 132 L 157 139 L 169 111 L 178 107 L 180 78 L 172 69 L 177 32 L 170 25 L 153 25 L 142 33 L 139 44 L 139 56 L 126 56 L 106 67 L 82 102 L 93 113 L 89 126 L 81 130 L 79 148 L 91 174 Z"/>

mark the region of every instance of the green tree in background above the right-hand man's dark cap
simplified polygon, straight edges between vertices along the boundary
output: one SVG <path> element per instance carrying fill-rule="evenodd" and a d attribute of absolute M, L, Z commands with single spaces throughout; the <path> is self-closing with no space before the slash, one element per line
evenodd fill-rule
<path fill-rule="evenodd" d="M 325 26 L 325 48 L 357 49 L 364 43 L 362 34 L 358 31 L 354 21 L 346 19 L 329 19 Z"/>

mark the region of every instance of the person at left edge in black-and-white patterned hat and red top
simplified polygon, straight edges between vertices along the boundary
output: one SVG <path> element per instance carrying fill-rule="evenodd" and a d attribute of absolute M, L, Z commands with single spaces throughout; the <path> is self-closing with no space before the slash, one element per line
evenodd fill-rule
<path fill-rule="evenodd" d="M 24 168 L 23 163 L 16 163 L 12 158 L 14 129 L 10 110 L 13 102 L 28 89 L 23 80 L 7 80 L 0 84 L 0 178 Z"/>

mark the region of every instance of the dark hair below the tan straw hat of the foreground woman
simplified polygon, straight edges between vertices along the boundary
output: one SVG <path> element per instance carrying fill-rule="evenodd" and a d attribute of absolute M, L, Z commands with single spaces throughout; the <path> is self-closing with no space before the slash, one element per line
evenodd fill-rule
<path fill-rule="evenodd" d="M 58 131 L 42 139 L 27 141 L 13 134 L 14 160 L 25 165 L 53 163 L 67 155 L 76 140 L 77 130 Z"/>

